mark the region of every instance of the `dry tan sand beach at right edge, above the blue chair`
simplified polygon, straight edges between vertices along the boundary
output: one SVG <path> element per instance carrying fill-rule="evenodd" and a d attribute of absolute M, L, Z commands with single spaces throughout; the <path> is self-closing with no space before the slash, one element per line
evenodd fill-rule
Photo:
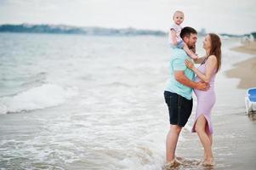
<path fill-rule="evenodd" d="M 256 87 L 256 42 L 248 42 L 241 47 L 231 49 L 246 54 L 255 54 L 255 56 L 235 64 L 233 69 L 226 71 L 226 76 L 240 79 L 237 88 Z"/>

